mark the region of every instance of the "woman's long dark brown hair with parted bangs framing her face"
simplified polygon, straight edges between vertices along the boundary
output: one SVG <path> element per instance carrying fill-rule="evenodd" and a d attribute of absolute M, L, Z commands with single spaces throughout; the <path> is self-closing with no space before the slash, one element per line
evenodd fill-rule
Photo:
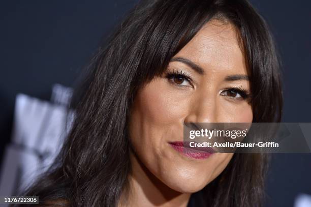
<path fill-rule="evenodd" d="M 75 90 L 75 120 L 53 165 L 23 195 L 42 206 L 117 206 L 131 173 L 128 120 L 137 91 L 210 19 L 236 26 L 251 77 L 253 122 L 280 122 L 282 87 L 269 29 L 246 0 L 155 0 L 133 8 L 100 47 Z M 261 206 L 267 154 L 234 154 L 191 196 L 195 206 Z M 24 206 L 24 205 L 22 205 Z M 32 206 L 32 205 L 31 205 Z"/>

